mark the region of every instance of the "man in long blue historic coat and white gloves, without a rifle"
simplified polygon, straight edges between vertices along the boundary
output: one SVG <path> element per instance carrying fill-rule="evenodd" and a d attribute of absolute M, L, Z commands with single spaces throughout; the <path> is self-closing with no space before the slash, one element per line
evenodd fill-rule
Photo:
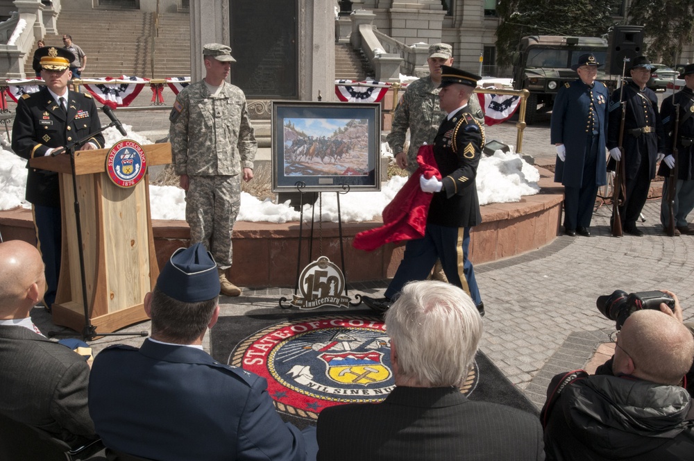
<path fill-rule="evenodd" d="M 571 69 L 579 78 L 564 84 L 552 108 L 550 137 L 557 147 L 555 181 L 564 185 L 564 232 L 591 236 L 598 187 L 607 184 L 607 87 L 595 81 L 600 63 L 582 55 Z"/>

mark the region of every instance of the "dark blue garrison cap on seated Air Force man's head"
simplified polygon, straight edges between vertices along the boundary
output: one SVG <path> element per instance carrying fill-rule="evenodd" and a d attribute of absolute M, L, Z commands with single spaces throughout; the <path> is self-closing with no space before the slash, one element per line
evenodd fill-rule
<path fill-rule="evenodd" d="M 184 303 L 208 301 L 219 296 L 217 263 L 201 243 L 179 248 L 159 274 L 157 287 Z"/>

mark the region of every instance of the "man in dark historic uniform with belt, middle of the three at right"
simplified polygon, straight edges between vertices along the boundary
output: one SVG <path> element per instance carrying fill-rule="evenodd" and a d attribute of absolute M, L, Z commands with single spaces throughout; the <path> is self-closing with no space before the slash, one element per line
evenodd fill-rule
<path fill-rule="evenodd" d="M 619 215 L 624 232 L 641 237 L 643 232 L 636 228 L 636 219 L 641 215 L 641 209 L 648 199 L 650 182 L 655 177 L 655 165 L 658 153 L 664 149 L 664 141 L 658 99 L 646 87 L 653 66 L 645 56 L 637 56 L 631 64 L 628 69 L 632 81 L 625 85 L 622 97 L 627 105 L 623 135 L 627 193 L 619 207 Z M 618 149 L 622 119 L 621 93 L 620 90 L 612 93 L 608 109 L 607 148 L 612 158 L 608 165 L 610 170 L 613 170 L 613 161 L 621 158 Z"/>

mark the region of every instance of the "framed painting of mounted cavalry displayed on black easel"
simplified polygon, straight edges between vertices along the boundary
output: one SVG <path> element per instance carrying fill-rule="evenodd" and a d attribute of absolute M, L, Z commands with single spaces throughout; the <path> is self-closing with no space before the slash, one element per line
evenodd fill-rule
<path fill-rule="evenodd" d="M 280 185 L 375 186 L 379 149 L 374 130 L 380 132 L 380 117 L 370 104 L 357 106 L 292 103 L 278 110 L 273 171 Z"/>

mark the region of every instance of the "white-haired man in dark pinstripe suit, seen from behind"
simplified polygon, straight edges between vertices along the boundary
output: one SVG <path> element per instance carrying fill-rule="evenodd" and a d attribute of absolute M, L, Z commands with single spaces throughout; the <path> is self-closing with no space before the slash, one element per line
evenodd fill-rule
<path fill-rule="evenodd" d="M 382 403 L 325 408 L 319 460 L 544 459 L 536 417 L 460 392 L 482 337 L 482 317 L 461 288 L 408 283 L 385 324 L 396 387 Z"/>

